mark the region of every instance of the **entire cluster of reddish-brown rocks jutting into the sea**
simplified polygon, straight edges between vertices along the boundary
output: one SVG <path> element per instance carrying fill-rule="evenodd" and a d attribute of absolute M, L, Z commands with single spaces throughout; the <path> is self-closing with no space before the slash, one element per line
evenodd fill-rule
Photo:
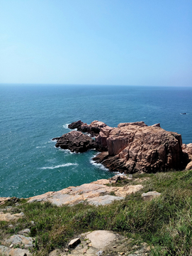
<path fill-rule="evenodd" d="M 192 144 L 182 144 L 181 134 L 167 132 L 160 124 L 128 122 L 114 128 L 99 121 L 86 124 L 79 120 L 69 128 L 77 131 L 55 138 L 56 146 L 76 152 L 97 149 L 101 153 L 94 161 L 111 171 L 132 174 L 192 166 Z"/>

